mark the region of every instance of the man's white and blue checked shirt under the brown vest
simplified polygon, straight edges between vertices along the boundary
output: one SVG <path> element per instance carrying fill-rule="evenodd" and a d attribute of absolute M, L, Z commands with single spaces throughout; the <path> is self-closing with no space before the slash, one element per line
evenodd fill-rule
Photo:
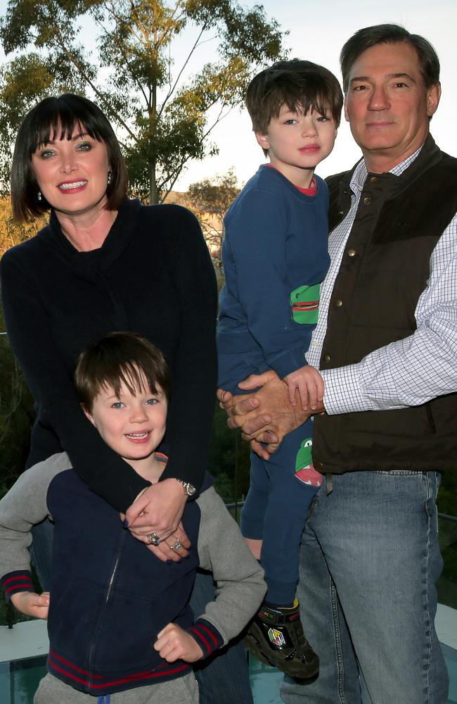
<path fill-rule="evenodd" d="M 402 161 L 392 173 L 401 175 L 419 152 Z M 317 368 L 326 337 L 330 296 L 367 173 L 362 160 L 350 182 L 349 213 L 330 236 L 330 270 L 321 287 L 318 324 L 307 353 L 309 364 Z M 457 214 L 432 252 L 430 279 L 415 315 L 417 329 L 409 337 L 371 352 L 357 364 L 321 372 L 327 413 L 419 406 L 435 396 L 457 391 Z"/>

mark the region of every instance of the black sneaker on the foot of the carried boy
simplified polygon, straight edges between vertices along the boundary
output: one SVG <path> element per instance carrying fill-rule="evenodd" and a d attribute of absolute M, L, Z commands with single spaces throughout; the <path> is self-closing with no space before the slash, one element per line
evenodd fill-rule
<path fill-rule="evenodd" d="M 308 679 L 318 673 L 319 658 L 304 637 L 297 599 L 292 608 L 262 605 L 250 622 L 244 643 L 257 660 L 290 677 Z"/>

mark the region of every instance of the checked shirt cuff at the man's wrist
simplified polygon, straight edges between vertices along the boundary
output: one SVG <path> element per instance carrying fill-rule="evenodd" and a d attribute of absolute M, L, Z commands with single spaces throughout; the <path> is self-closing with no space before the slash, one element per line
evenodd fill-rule
<path fill-rule="evenodd" d="M 323 405 L 328 415 L 374 410 L 368 396 L 359 387 L 356 369 L 357 365 L 352 364 L 321 371 L 324 383 Z"/>

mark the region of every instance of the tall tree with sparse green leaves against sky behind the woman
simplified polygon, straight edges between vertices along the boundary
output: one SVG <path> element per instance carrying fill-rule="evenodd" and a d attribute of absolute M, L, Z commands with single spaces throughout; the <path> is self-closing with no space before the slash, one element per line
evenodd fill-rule
<path fill-rule="evenodd" d="M 84 25 L 96 28 L 96 51 Z M 195 36 L 175 68 L 182 32 Z M 188 34 L 188 36 L 190 36 Z M 217 153 L 208 136 L 243 101 L 259 68 L 284 55 L 276 20 L 237 0 L 9 0 L 0 39 L 0 181 L 22 116 L 46 95 L 88 93 L 122 137 L 133 191 L 156 203 L 189 159 Z M 188 75 L 202 44 L 212 61 Z"/>

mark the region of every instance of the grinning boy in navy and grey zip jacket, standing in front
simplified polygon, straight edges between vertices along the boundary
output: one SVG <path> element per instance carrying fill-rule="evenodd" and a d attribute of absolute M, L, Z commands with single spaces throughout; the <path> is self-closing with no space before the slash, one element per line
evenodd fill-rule
<path fill-rule="evenodd" d="M 160 351 L 134 334 L 113 333 L 82 353 L 75 383 L 88 422 L 157 482 L 166 458 L 155 448 L 170 391 Z M 27 549 L 32 525 L 46 516 L 55 523 L 50 596 L 34 593 Z M 198 704 L 191 663 L 243 629 L 265 586 L 210 482 L 186 503 L 182 522 L 188 556 L 169 536 L 170 554 L 182 559 L 161 562 L 79 479 L 65 453 L 21 475 L 0 501 L 0 577 L 20 611 L 46 618 L 49 609 L 49 674 L 34 704 Z M 199 565 L 212 570 L 219 593 L 194 619 L 188 602 Z"/>

